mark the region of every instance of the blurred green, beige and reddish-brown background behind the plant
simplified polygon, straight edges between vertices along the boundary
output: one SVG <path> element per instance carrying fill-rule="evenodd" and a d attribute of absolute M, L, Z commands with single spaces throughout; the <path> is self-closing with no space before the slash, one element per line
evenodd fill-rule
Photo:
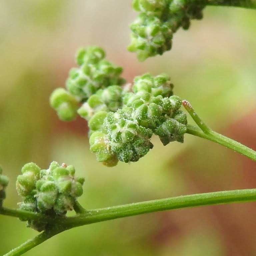
<path fill-rule="evenodd" d="M 87 125 L 58 120 L 51 91 L 64 87 L 79 46 L 99 45 L 124 76 L 168 73 L 216 131 L 256 149 L 256 12 L 207 7 L 202 21 L 174 35 L 173 48 L 143 63 L 126 51 L 136 13 L 122 0 L 0 1 L 0 162 L 10 177 L 5 206 L 21 199 L 16 176 L 30 161 L 73 164 L 86 178 L 80 202 L 106 207 L 176 195 L 253 188 L 256 165 L 235 152 L 185 135 L 139 162 L 107 168 L 88 149 Z M 191 121 L 192 123 L 192 121 Z M 256 203 L 183 209 L 66 231 L 26 255 L 256 255 Z M 0 255 L 37 232 L 0 216 Z"/>

